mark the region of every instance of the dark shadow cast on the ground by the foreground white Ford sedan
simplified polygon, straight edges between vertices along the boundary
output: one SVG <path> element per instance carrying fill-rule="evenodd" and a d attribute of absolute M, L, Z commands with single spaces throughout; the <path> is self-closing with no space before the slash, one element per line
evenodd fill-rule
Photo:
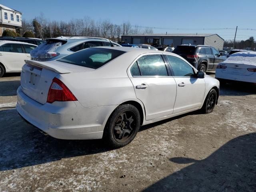
<path fill-rule="evenodd" d="M 142 126 L 139 131 L 189 114 L 200 114 L 200 111 Z M 0 171 L 114 150 L 103 140 L 61 140 L 45 136 L 26 123 L 14 108 L 0 110 L 0 125 Z"/>

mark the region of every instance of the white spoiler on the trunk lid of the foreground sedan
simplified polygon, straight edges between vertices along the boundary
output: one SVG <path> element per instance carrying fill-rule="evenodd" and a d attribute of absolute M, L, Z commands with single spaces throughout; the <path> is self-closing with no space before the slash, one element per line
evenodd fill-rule
<path fill-rule="evenodd" d="M 56 64 L 51 64 L 48 62 L 41 62 L 41 61 L 32 61 L 32 60 L 24 60 L 26 64 L 34 65 L 40 68 L 45 68 L 51 71 L 54 71 L 59 74 L 64 74 L 64 73 L 71 73 L 72 71 L 69 71 L 67 69 L 62 68 L 61 66 L 58 66 Z"/>

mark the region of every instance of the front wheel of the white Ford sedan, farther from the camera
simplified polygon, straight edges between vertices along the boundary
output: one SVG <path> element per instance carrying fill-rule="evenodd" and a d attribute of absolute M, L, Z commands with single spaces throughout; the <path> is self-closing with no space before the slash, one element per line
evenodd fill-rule
<path fill-rule="evenodd" d="M 215 89 L 211 89 L 205 98 L 204 105 L 202 107 L 203 113 L 211 113 L 217 102 L 217 92 Z"/>

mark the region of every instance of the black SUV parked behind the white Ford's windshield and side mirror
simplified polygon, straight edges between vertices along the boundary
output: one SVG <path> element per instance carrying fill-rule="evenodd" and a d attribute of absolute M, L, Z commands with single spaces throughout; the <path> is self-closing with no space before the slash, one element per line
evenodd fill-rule
<path fill-rule="evenodd" d="M 215 70 L 218 63 L 226 60 L 222 53 L 207 45 L 179 45 L 173 53 L 182 56 L 199 71 Z"/>

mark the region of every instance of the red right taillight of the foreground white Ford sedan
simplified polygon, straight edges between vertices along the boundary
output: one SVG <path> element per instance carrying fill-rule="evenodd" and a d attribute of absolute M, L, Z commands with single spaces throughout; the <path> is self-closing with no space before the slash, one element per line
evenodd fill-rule
<path fill-rule="evenodd" d="M 48 103 L 53 103 L 54 101 L 77 101 L 67 86 L 57 78 L 52 80 L 47 97 Z"/>

